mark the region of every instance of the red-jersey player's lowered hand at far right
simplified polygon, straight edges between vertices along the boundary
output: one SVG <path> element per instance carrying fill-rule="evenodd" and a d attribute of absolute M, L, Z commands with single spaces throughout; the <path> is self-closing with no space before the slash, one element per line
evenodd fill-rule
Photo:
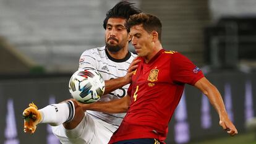
<path fill-rule="evenodd" d="M 220 125 L 223 128 L 223 130 L 226 130 L 226 132 L 229 133 L 229 135 L 231 136 L 234 136 L 238 133 L 233 122 L 231 122 L 228 117 L 220 119 Z"/>

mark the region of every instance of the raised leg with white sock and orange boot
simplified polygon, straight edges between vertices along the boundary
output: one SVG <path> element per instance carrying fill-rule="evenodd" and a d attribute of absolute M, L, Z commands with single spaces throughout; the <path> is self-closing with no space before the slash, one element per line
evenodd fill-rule
<path fill-rule="evenodd" d="M 53 126 L 64 124 L 66 129 L 74 129 L 83 117 L 84 112 L 75 100 L 51 104 L 39 110 L 32 103 L 23 111 L 24 132 L 34 133 L 40 123 Z"/>

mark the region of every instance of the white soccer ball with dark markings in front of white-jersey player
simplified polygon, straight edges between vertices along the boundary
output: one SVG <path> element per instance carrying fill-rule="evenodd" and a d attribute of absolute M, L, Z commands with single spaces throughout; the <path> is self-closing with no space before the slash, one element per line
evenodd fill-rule
<path fill-rule="evenodd" d="M 69 92 L 81 103 L 98 101 L 105 91 L 103 77 L 96 70 L 77 70 L 69 80 Z"/>

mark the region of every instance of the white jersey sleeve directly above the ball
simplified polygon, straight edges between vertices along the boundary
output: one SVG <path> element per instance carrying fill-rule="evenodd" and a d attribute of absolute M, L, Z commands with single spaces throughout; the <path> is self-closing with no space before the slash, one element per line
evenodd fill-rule
<path fill-rule="evenodd" d="M 84 51 L 79 59 L 79 70 L 83 69 L 95 69 L 97 67 L 96 58 L 90 50 Z"/>

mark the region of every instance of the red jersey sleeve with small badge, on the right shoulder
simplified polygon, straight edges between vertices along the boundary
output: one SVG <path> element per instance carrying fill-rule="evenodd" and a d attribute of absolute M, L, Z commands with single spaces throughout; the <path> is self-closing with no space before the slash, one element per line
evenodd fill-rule
<path fill-rule="evenodd" d="M 173 82 L 194 85 L 200 78 L 204 77 L 202 70 L 182 54 L 173 54 L 172 61 Z"/>

